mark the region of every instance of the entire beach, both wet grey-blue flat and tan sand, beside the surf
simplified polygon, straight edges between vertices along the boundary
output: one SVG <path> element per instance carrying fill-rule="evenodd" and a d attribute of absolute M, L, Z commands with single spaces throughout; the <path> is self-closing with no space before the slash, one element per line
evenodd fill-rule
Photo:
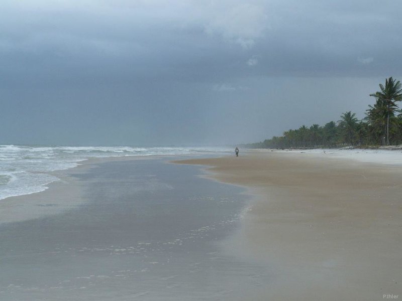
<path fill-rule="evenodd" d="M 85 161 L 3 200 L 0 299 L 400 298 L 398 154 Z"/>

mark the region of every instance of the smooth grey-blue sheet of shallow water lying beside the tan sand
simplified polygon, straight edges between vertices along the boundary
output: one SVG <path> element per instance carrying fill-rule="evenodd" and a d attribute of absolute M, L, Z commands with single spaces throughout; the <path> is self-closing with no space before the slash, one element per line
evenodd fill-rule
<path fill-rule="evenodd" d="M 269 280 L 220 247 L 248 200 L 199 174 L 162 160 L 76 174 L 84 205 L 0 227 L 0 299 L 242 299 Z"/>

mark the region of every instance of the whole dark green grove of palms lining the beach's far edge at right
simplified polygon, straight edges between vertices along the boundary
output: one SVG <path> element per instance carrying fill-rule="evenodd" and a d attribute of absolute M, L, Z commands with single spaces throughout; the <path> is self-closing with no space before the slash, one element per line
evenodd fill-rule
<path fill-rule="evenodd" d="M 313 124 L 289 129 L 282 136 L 262 142 L 245 144 L 251 148 L 290 147 L 339 147 L 347 145 L 396 145 L 402 143 L 402 110 L 397 102 L 402 100 L 401 83 L 392 77 L 379 84 L 380 91 L 370 96 L 375 103 L 369 105 L 365 117 L 358 120 L 356 113 L 345 112 L 337 122 L 323 126 Z"/>

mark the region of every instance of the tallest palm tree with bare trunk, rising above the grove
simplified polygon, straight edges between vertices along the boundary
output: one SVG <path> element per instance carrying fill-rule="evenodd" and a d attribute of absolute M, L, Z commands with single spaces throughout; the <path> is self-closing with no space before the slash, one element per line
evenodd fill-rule
<path fill-rule="evenodd" d="M 379 84 L 380 90 L 370 96 L 383 100 L 387 105 L 387 118 L 386 118 L 386 144 L 389 145 L 389 116 L 394 112 L 394 107 L 397 107 L 395 101 L 402 100 L 402 85 L 396 81 L 392 76 L 385 79 L 385 87 Z"/>

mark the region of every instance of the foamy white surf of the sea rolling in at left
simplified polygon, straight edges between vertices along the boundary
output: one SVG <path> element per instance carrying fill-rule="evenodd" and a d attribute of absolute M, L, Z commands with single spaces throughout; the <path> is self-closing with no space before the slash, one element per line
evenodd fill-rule
<path fill-rule="evenodd" d="M 89 158 L 227 153 L 225 147 L 26 146 L 0 145 L 0 200 L 46 190 L 58 178 L 47 173 Z"/>

